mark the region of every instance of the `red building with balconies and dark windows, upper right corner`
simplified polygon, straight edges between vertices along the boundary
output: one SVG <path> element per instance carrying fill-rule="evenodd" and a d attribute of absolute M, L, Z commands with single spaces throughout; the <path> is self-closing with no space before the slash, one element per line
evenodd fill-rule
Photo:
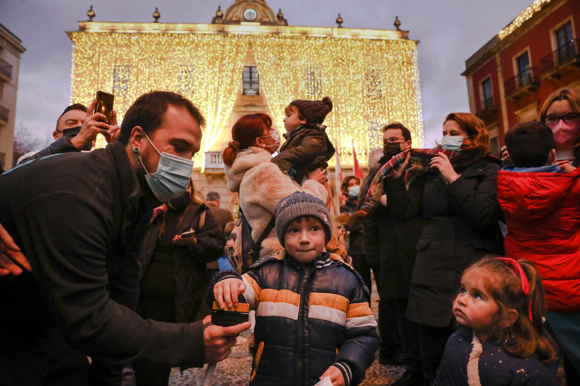
<path fill-rule="evenodd" d="M 536 121 L 554 90 L 580 88 L 580 0 L 535 0 L 465 66 L 470 110 L 497 154 L 507 129 Z"/>

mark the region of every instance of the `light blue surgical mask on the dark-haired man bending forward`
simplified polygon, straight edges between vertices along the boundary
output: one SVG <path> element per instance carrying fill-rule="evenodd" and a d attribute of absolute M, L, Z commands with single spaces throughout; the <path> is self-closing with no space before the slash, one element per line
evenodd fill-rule
<path fill-rule="evenodd" d="M 160 152 L 153 142 L 151 142 L 147 134 L 145 134 L 145 137 L 151 146 L 161 155 L 157 172 L 153 174 L 148 172 L 145 165 L 143 165 L 141 155 L 139 155 L 139 161 L 141 161 L 143 169 L 147 172 L 145 174 L 145 180 L 149 184 L 151 191 L 159 201 L 169 201 L 183 194 L 187 190 L 187 185 L 191 179 L 193 161 L 177 155 Z"/>

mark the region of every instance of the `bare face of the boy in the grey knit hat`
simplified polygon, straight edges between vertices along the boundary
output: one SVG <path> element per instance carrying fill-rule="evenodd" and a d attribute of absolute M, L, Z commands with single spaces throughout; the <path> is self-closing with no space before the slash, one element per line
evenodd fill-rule
<path fill-rule="evenodd" d="M 324 240 L 324 227 L 314 217 L 300 217 L 292 221 L 284 233 L 285 248 L 300 265 L 310 265 L 322 254 Z"/>

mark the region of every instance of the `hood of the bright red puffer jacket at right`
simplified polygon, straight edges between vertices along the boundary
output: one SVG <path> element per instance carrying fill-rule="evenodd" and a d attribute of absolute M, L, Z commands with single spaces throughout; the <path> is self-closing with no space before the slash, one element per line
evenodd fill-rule
<path fill-rule="evenodd" d="M 561 205 L 578 173 L 522 173 L 499 170 L 498 202 L 506 216 L 539 220 Z"/>

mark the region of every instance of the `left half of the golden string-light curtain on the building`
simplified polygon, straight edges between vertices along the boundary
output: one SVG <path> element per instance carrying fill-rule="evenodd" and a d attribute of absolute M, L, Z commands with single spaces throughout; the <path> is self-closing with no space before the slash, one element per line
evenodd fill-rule
<path fill-rule="evenodd" d="M 75 32 L 71 103 L 87 106 L 97 90 L 115 95 L 122 120 L 129 106 L 150 90 L 181 93 L 207 121 L 194 165 L 203 167 L 231 110 L 248 51 L 237 35 L 110 34 Z M 100 138 L 97 147 L 104 146 Z"/>

